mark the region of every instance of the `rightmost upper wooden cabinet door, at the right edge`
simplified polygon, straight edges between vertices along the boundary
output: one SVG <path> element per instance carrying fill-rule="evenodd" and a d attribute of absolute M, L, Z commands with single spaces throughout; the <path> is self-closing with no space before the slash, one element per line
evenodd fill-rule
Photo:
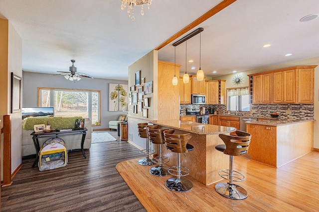
<path fill-rule="evenodd" d="M 298 103 L 314 103 L 315 67 L 297 69 Z"/>

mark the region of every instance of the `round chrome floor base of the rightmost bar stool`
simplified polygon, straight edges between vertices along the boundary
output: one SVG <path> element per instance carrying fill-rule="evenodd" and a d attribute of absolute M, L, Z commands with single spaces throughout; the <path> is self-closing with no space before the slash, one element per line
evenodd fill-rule
<path fill-rule="evenodd" d="M 220 195 L 233 200 L 243 200 L 248 197 L 247 191 L 236 184 L 217 183 L 215 189 Z"/>

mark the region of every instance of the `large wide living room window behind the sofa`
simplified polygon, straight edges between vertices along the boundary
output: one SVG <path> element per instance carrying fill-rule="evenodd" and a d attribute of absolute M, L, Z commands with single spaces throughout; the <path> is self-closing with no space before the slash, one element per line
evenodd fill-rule
<path fill-rule="evenodd" d="M 38 88 L 39 107 L 54 107 L 54 116 L 89 117 L 92 123 L 101 120 L 99 90 Z"/>

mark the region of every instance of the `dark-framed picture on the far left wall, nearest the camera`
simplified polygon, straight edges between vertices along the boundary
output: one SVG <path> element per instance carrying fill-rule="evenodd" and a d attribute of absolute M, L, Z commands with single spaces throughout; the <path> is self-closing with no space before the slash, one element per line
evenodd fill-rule
<path fill-rule="evenodd" d="M 21 111 L 21 77 L 11 72 L 11 113 Z"/>

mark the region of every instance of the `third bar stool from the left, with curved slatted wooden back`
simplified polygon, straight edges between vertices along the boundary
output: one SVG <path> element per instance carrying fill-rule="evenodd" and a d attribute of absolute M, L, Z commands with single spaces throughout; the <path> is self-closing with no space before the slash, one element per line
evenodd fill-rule
<path fill-rule="evenodd" d="M 180 165 L 180 154 L 193 150 L 194 146 L 187 143 L 191 138 L 190 133 L 174 135 L 173 133 L 174 130 L 165 130 L 163 132 L 166 147 L 177 153 L 177 165 L 168 169 L 168 173 L 176 177 L 168 179 L 165 182 L 165 186 L 174 192 L 186 192 L 193 187 L 193 184 L 189 180 L 181 178 L 188 175 L 190 171 L 187 167 Z"/>

